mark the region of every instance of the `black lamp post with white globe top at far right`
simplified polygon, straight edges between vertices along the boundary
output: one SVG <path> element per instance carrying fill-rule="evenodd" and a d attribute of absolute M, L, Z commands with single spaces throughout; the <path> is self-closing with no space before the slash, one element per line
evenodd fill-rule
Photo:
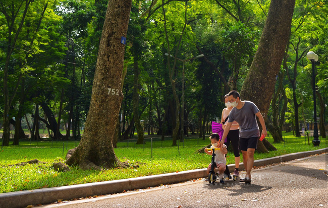
<path fill-rule="evenodd" d="M 318 61 L 318 55 L 313 51 L 309 51 L 306 54 L 307 58 L 312 63 L 312 88 L 313 88 L 313 107 L 314 107 L 314 129 L 313 129 L 313 141 L 312 144 L 314 147 L 320 145 L 318 126 L 316 123 L 316 102 L 315 102 L 315 62 Z"/>

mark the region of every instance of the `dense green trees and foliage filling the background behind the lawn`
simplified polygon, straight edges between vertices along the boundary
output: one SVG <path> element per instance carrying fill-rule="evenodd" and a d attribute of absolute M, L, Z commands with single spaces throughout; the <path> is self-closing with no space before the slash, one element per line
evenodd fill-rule
<path fill-rule="evenodd" d="M 275 142 L 283 140 L 283 129 L 300 136 L 302 127 L 311 126 L 313 120 L 308 51 L 319 56 L 316 116 L 320 118 L 320 135 L 325 136 L 326 2 L 298 0 L 289 8 L 293 10 L 291 22 L 268 22 L 273 3 L 132 1 L 127 34 L 115 37 L 125 46 L 122 76 L 118 78 L 122 86 L 107 90 L 107 94 L 116 94 L 117 89 L 124 96 L 113 146 L 135 136 L 135 131 L 137 144 L 143 143 L 145 133 L 161 135 L 162 140 L 171 135 L 172 145 L 183 138 L 180 132 L 205 138 L 211 131 L 211 121 L 220 120 L 223 97 L 231 90 L 241 91 L 242 96 L 263 106 L 265 121 L 271 124 L 268 130 L 277 135 Z M 294 4 L 292 0 L 285 3 Z M 107 4 L 104 0 L 0 2 L 2 145 L 9 145 L 11 125 L 15 126 L 14 145 L 25 137 L 22 128 L 29 128 L 32 139 L 39 140 L 41 126 L 48 129 L 53 140 L 81 138 L 94 96 L 99 48 L 108 44 L 100 42 Z M 271 14 L 279 15 L 278 9 Z M 284 41 L 277 44 L 283 46 L 279 49 L 282 61 L 268 55 L 278 48 L 261 49 L 260 39 L 276 34 L 272 30 L 265 36 L 265 27 L 287 30 L 282 33 L 287 46 L 283 46 Z M 255 53 L 259 50 L 262 52 Z M 200 54 L 203 57 L 196 58 Z M 272 97 L 266 100 L 252 97 L 254 86 L 244 85 L 256 79 L 257 75 L 249 73 L 254 67 L 264 74 L 261 90 L 270 88 Z M 265 74 L 270 67 L 275 73 Z M 67 133 L 62 135 L 59 129 Z"/>

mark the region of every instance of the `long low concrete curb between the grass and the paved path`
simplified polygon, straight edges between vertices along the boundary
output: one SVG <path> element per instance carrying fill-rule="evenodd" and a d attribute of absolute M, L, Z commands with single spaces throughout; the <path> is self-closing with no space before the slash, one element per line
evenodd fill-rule
<path fill-rule="evenodd" d="M 328 152 L 328 148 L 292 153 L 274 158 L 255 160 L 254 166 L 268 165 L 272 163 L 280 163 L 290 160 L 295 160 L 311 155 L 322 154 Z M 228 165 L 232 172 L 235 169 L 235 164 Z M 243 170 L 244 165 L 241 163 L 239 169 Z M 178 173 L 167 173 L 153 176 L 144 176 L 138 178 L 103 181 L 96 183 L 87 183 L 71 186 L 62 186 L 54 188 L 42 188 L 29 191 L 17 191 L 0 194 L 0 207 L 26 207 L 32 204 L 49 204 L 58 199 L 73 199 L 99 194 L 120 193 L 124 190 L 140 189 L 145 187 L 154 187 L 159 184 L 178 183 L 194 178 L 207 177 L 206 169 L 197 169 L 182 171 Z"/>

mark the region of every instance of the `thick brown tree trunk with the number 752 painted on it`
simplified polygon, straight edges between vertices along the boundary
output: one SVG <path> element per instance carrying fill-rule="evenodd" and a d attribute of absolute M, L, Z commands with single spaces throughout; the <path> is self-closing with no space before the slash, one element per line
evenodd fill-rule
<path fill-rule="evenodd" d="M 66 160 L 68 165 L 96 170 L 124 166 L 115 155 L 113 138 L 123 100 L 125 45 L 120 40 L 126 37 L 130 10 L 131 0 L 108 2 L 85 131 L 79 146 Z"/>

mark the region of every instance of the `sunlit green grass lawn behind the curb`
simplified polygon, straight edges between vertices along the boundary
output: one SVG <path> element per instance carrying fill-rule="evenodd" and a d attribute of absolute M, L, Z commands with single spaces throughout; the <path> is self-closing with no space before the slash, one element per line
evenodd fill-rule
<path fill-rule="evenodd" d="M 326 138 L 319 138 L 320 146 L 313 147 L 312 138 L 310 138 L 310 145 L 307 145 L 304 137 L 297 138 L 292 133 L 284 135 L 285 143 L 274 144 L 278 151 L 265 154 L 255 153 L 254 159 L 321 149 L 325 148 L 327 144 Z M 131 165 L 140 165 L 137 169 L 131 166 L 127 169 L 82 171 L 77 167 L 71 167 L 71 171 L 65 173 L 54 171 L 50 166 L 55 161 L 64 162 L 67 150 L 76 147 L 77 141 L 32 143 L 28 140 L 20 141 L 18 147 L 3 147 L 0 152 L 0 193 L 200 169 L 206 168 L 210 163 L 210 156 L 207 154 L 195 154 L 196 150 L 209 144 L 207 137 L 205 141 L 201 138 L 186 137 L 185 142 L 180 143 L 179 147 L 172 147 L 172 140 L 169 139 L 170 137 L 166 138 L 167 141 L 161 142 L 158 136 L 153 136 L 152 149 L 150 136 L 146 136 L 145 145 L 135 145 L 136 137 L 129 143 L 118 143 L 118 148 L 115 149 L 118 158 L 122 162 L 128 161 Z M 267 137 L 267 139 L 273 143 L 272 137 Z M 9 166 L 33 159 L 47 164 Z M 227 162 L 228 164 L 234 163 L 232 152 L 228 153 Z"/>

